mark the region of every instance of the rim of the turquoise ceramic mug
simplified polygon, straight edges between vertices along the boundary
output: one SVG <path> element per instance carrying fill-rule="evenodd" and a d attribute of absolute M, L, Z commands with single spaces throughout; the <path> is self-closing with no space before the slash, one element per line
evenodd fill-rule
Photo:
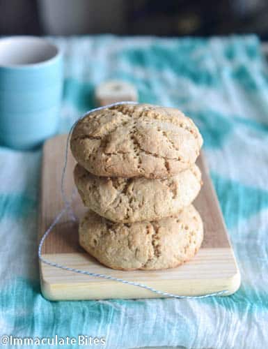
<path fill-rule="evenodd" d="M 0 69 L 27 69 L 27 68 L 39 68 L 41 66 L 47 66 L 49 64 L 52 64 L 56 59 L 62 56 L 60 48 L 52 43 L 51 41 L 47 40 L 47 38 L 42 38 L 40 36 L 28 36 L 28 35 L 16 35 L 16 36 L 5 36 L 0 38 L 0 47 L 2 43 L 5 43 L 7 41 L 14 41 L 17 40 L 36 40 L 39 43 L 45 43 L 46 45 L 52 47 L 55 50 L 55 54 L 52 55 L 52 57 L 49 57 L 48 59 L 45 59 L 44 61 L 39 61 L 36 63 L 30 63 L 30 64 L 1 64 L 0 62 Z"/>

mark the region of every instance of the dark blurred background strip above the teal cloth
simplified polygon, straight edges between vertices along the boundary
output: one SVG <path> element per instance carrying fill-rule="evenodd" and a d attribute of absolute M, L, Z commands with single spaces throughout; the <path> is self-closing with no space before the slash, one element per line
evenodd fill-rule
<path fill-rule="evenodd" d="M 268 38 L 267 0 L 0 0 L 0 35 L 211 36 Z"/>

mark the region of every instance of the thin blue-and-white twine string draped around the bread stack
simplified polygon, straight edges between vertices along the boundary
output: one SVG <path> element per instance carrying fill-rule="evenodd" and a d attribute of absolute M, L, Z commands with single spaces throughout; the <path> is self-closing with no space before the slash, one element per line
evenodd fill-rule
<path fill-rule="evenodd" d="M 102 279 L 108 279 L 108 280 L 112 280 L 112 281 L 118 281 L 120 283 L 125 283 L 127 285 L 132 285 L 132 286 L 136 286 L 136 287 L 140 287 L 140 288 L 144 288 L 145 290 L 149 290 L 151 292 L 155 292 L 155 294 L 157 295 L 161 295 L 163 297 L 172 297 L 172 298 L 187 298 L 187 299 L 200 299 L 200 298 L 207 298 L 207 297 L 212 297 L 212 296 L 219 296 L 219 295 L 223 295 L 224 293 L 228 292 L 227 290 L 222 290 L 222 291 L 218 291 L 218 292 L 213 292 L 213 293 L 207 293 L 205 295 L 199 295 L 199 296 L 179 296 L 179 295 L 173 295 L 172 293 L 168 293 L 168 292 L 163 292 L 160 290 L 156 290 L 155 288 L 152 288 L 148 285 L 145 285 L 143 283 L 137 283 L 134 281 L 128 281 L 128 280 L 124 280 L 124 279 L 120 279 L 120 278 L 116 278 L 114 276 L 111 275 L 107 275 L 107 274 L 97 274 L 97 273 L 91 273 L 91 272 L 87 272 L 86 270 L 82 270 L 82 269 L 76 269 L 76 268 L 72 268 L 72 267 L 67 267 L 65 265 L 61 265 L 55 262 L 51 262 L 50 260 L 47 260 L 46 258 L 42 257 L 42 246 L 45 242 L 45 239 L 47 239 L 47 237 L 49 236 L 49 234 L 52 232 L 53 228 L 58 224 L 58 222 L 61 220 L 61 217 L 63 216 L 63 214 L 69 214 L 70 218 L 72 221 L 77 221 L 77 218 L 74 215 L 74 212 L 72 211 L 72 202 L 74 199 L 74 195 L 75 193 L 77 193 L 77 191 L 74 188 L 74 191 L 72 191 L 72 195 L 70 200 L 68 200 L 68 198 L 65 195 L 65 191 L 64 191 L 64 181 L 65 181 L 65 172 L 66 172 L 66 168 L 67 168 L 67 163 L 68 163 L 68 145 L 70 142 L 70 135 L 72 134 L 72 130 L 74 129 L 74 126 L 76 126 L 77 122 L 81 119 L 83 119 L 86 115 L 95 112 L 97 110 L 102 110 L 105 108 L 109 108 L 109 107 L 113 107 L 115 105 L 121 105 L 121 104 L 136 104 L 136 102 L 118 102 L 118 103 L 112 103 L 110 105 L 105 105 L 104 107 L 97 107 L 95 109 L 90 110 L 89 112 L 86 112 L 86 114 L 82 115 L 79 119 L 77 119 L 77 121 L 74 122 L 74 124 L 72 125 L 72 127 L 70 128 L 70 131 L 68 133 L 68 138 L 67 138 L 67 142 L 66 142 L 66 147 L 65 147 L 65 159 L 64 159 L 64 166 L 63 166 L 63 172 L 61 175 L 61 195 L 63 198 L 63 202 L 64 202 L 64 207 L 63 209 L 57 214 L 56 218 L 54 218 L 54 221 L 52 222 L 52 224 L 49 226 L 49 228 L 45 231 L 44 235 L 42 236 L 42 239 L 40 240 L 40 244 L 38 246 L 38 258 L 45 263 L 46 265 L 50 265 L 52 267 L 56 267 L 59 269 L 63 269 L 63 270 L 67 270 L 68 272 L 74 272 L 74 273 L 78 273 L 78 274 L 84 274 L 84 275 L 88 275 L 88 276 L 93 276 L 93 277 L 97 277 L 97 278 L 102 278 Z"/>

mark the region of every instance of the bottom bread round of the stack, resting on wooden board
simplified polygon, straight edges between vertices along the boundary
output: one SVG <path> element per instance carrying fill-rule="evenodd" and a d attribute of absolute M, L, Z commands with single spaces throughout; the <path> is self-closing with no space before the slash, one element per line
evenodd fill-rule
<path fill-rule="evenodd" d="M 194 257 L 203 241 L 203 223 L 193 205 L 159 221 L 113 223 L 88 211 L 79 224 L 79 243 L 113 269 L 178 267 Z"/>

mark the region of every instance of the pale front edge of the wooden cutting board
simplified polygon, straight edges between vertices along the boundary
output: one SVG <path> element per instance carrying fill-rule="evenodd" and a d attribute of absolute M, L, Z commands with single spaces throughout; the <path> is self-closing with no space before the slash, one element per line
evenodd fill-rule
<path fill-rule="evenodd" d="M 170 281 L 146 281 L 147 285 L 152 288 L 161 290 L 163 292 L 173 293 L 175 295 L 206 295 L 207 292 L 219 292 L 227 290 L 228 292 L 220 296 L 228 296 L 235 293 L 240 286 L 241 276 L 237 267 L 235 256 L 233 255 L 231 248 L 226 248 L 228 253 L 232 256 L 233 269 L 227 276 L 217 277 L 212 279 L 210 277 L 203 279 L 171 279 Z M 67 255 L 67 254 L 66 254 Z M 49 255 L 46 255 L 49 258 Z M 73 256 L 72 256 L 73 258 Z M 54 261 L 52 259 L 52 261 Z M 77 267 L 76 265 L 68 265 L 69 267 Z M 70 274 L 72 281 L 54 282 L 53 279 L 47 277 L 47 269 L 54 268 L 45 265 L 45 268 L 40 262 L 40 281 L 42 295 L 49 300 L 88 300 L 88 299 L 137 299 L 137 298 L 163 298 L 161 295 L 157 295 L 152 291 L 138 288 L 133 285 L 125 285 L 123 283 L 116 283 L 116 281 L 102 280 L 86 282 L 84 280 L 77 280 L 75 283 L 72 279 L 71 272 L 62 270 L 63 273 Z M 67 274 L 66 274 L 67 275 Z M 134 280 L 136 282 L 144 283 L 143 281 Z M 109 288 L 109 297 L 107 297 L 107 288 Z M 180 290 L 180 292 L 178 292 Z"/>

